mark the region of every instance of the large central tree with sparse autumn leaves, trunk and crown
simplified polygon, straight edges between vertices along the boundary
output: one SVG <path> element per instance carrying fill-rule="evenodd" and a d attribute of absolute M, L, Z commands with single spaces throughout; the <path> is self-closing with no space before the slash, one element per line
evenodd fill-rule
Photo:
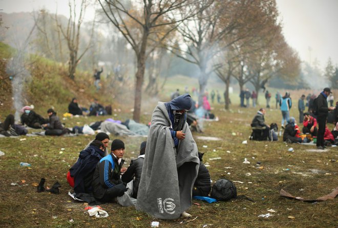
<path fill-rule="evenodd" d="M 135 74 L 135 100 L 133 119 L 140 120 L 142 84 L 145 61 L 149 54 L 175 30 L 176 26 L 194 15 L 197 0 L 99 0 L 99 3 L 112 24 L 129 42 L 137 59 Z M 184 8 L 183 14 L 177 14 Z M 159 31 L 162 31 L 160 33 Z M 153 37 L 152 39 L 150 39 Z M 153 45 L 149 48 L 149 42 Z"/>

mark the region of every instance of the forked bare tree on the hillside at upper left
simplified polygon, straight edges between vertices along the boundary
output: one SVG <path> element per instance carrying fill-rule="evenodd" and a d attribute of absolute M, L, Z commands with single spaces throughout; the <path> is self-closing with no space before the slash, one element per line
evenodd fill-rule
<path fill-rule="evenodd" d="M 59 27 L 61 34 L 67 40 L 68 50 L 69 50 L 69 60 L 68 60 L 68 74 L 71 79 L 75 78 L 76 67 L 86 52 L 89 50 L 91 45 L 91 39 L 93 36 L 94 30 L 94 21 L 92 26 L 91 38 L 87 44 L 87 47 L 79 54 L 79 45 L 80 45 L 80 29 L 83 22 L 83 17 L 85 16 L 86 8 L 88 6 L 87 0 L 82 0 L 79 6 L 79 15 L 76 13 L 76 1 L 69 0 L 68 2 L 70 17 L 68 19 L 67 28 L 63 28 L 63 26 L 58 22 L 57 16 L 55 16 L 57 26 Z"/>

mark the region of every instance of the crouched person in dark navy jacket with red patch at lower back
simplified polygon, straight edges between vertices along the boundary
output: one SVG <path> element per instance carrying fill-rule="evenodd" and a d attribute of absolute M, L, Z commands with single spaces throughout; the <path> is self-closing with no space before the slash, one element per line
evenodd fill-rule
<path fill-rule="evenodd" d="M 74 192 L 92 193 L 93 174 L 97 163 L 104 157 L 105 146 L 99 140 L 94 140 L 87 149 L 82 150 L 76 163 L 67 173 L 68 183 L 73 183 Z"/>

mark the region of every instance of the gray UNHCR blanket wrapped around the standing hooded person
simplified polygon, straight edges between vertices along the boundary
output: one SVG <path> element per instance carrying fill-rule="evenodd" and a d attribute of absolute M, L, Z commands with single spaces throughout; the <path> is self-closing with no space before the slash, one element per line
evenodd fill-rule
<path fill-rule="evenodd" d="M 185 123 L 185 139 L 176 151 L 171 121 L 163 102 L 154 109 L 148 134 L 136 209 L 160 219 L 176 219 L 192 206 L 197 177 L 197 145 Z"/>

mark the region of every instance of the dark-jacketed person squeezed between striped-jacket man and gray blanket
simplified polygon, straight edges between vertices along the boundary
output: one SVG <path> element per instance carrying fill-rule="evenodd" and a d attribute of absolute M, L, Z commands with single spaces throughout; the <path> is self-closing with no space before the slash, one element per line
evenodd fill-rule
<path fill-rule="evenodd" d="M 140 185 L 146 141 L 141 143 L 140 155 L 130 162 L 128 169 L 123 173 L 121 179 L 123 183 L 129 183 L 133 180 L 133 198 L 137 198 L 138 186 Z"/>

